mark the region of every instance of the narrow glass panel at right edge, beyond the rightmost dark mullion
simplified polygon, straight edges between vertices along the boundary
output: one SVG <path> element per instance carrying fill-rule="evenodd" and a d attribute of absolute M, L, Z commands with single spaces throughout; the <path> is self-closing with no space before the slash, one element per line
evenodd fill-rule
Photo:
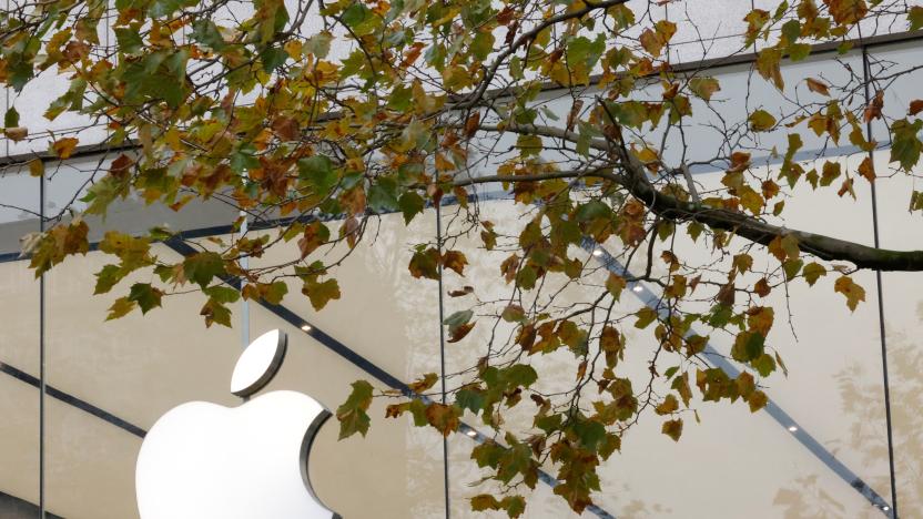
<path fill-rule="evenodd" d="M 886 143 L 884 124 L 907 116 L 910 102 L 920 99 L 920 81 L 923 72 L 915 70 L 923 65 L 919 42 L 875 48 L 870 54 L 873 78 L 892 77 L 892 80 L 875 83 L 872 89 L 886 88 L 884 93 L 884 121 L 876 121 L 874 135 L 885 142 L 875 152 L 878 180 L 879 232 L 881 246 L 897 251 L 923 250 L 921 214 L 910 212 L 909 201 L 913 191 L 923 190 L 921 175 L 923 164 L 907 173 L 897 163 L 890 162 L 891 149 Z M 903 73 L 911 71 L 910 73 Z M 909 118 L 913 121 L 913 118 Z M 897 513 L 913 516 L 923 509 L 923 407 L 920 389 L 923 387 L 923 277 L 920 273 L 884 273 L 882 275 L 884 296 L 884 330 L 888 344 L 889 387 L 895 478 L 897 488 Z M 886 455 L 884 429 L 868 448 Z"/>

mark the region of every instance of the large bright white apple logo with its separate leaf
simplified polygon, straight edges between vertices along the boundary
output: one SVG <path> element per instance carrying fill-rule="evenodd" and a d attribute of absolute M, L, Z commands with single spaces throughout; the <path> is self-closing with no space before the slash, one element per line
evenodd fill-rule
<path fill-rule="evenodd" d="M 274 329 L 241 354 L 239 407 L 190 401 L 151 428 L 135 467 L 141 519 L 338 519 L 317 499 L 307 462 L 331 413 L 296 391 L 250 397 L 272 380 L 287 337 Z"/>

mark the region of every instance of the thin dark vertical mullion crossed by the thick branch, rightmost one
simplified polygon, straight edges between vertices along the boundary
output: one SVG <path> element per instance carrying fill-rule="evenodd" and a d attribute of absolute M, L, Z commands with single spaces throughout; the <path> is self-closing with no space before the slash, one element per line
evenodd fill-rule
<path fill-rule="evenodd" d="M 865 105 L 868 106 L 869 103 L 872 101 L 872 95 L 870 91 L 870 83 L 871 83 L 871 65 L 869 63 L 869 49 L 865 45 L 862 45 L 862 79 L 863 79 L 863 91 L 865 95 Z M 874 142 L 872 138 L 872 121 L 868 120 L 865 122 L 865 140 L 869 142 Z M 874 150 L 869 150 L 869 161 L 874 164 L 875 153 Z M 875 248 L 881 247 L 880 237 L 879 237 L 879 207 L 878 207 L 878 192 L 875 190 L 875 183 L 872 182 L 872 228 L 873 228 L 873 236 L 874 236 L 874 245 Z M 891 517 L 897 518 L 897 487 L 896 487 L 896 478 L 895 478 L 895 470 L 894 470 L 894 441 L 893 441 L 893 434 L 892 434 L 892 425 L 891 425 L 891 388 L 889 386 L 888 380 L 888 337 L 884 329 L 884 295 L 882 293 L 882 277 L 881 277 L 881 269 L 875 269 L 875 284 L 878 286 L 878 303 L 879 303 L 879 337 L 881 338 L 881 365 L 882 365 L 882 380 L 884 384 L 884 418 L 885 418 L 885 426 L 888 429 L 888 465 L 889 465 L 889 472 L 891 476 Z"/>

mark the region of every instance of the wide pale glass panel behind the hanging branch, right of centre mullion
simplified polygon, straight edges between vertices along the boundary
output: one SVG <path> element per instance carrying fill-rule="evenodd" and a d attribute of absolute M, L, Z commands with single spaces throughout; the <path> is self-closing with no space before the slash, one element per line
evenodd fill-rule
<path fill-rule="evenodd" d="M 861 157 L 843 160 L 855 167 Z M 721 176 L 721 173 L 700 174 L 698 180 L 709 186 Z M 808 193 L 804 197 L 804 193 L 799 192 L 790 200 L 790 225 L 868 242 L 871 240 L 868 187 L 858 187 L 856 194 L 859 202 L 853 204 L 834 193 Z M 490 215 L 489 220 L 503 235 L 514 230 L 514 218 L 523 210 L 514 208 L 506 201 L 495 201 L 483 202 L 479 211 Z M 841 216 L 835 221 L 819 222 L 819 211 Z M 453 210 L 446 208 L 446 212 L 450 214 Z M 452 230 L 447 234 L 452 234 Z M 479 315 L 493 315 L 510 297 L 509 287 L 496 277 L 496 265 L 509 253 L 476 251 L 478 245 L 474 238 L 460 241 L 456 247 L 466 253 L 471 265 L 466 278 L 458 283 L 473 284 L 477 301 L 497 302 L 481 305 L 477 311 Z M 619 251 L 616 243 L 605 246 L 612 253 Z M 693 264 L 703 260 L 699 257 L 703 255 L 699 248 L 682 238 L 676 247 L 678 255 Z M 769 266 L 771 262 L 759 254 L 754 254 L 754 258 L 755 265 Z M 643 265 L 637 268 L 641 269 Z M 779 374 L 760 383 L 775 404 L 773 414 L 761 411 L 754 416 L 746 406 L 711 406 L 698 401 L 694 408 L 701 424 L 688 417 L 679 444 L 660 432 L 660 419 L 652 415 L 643 418 L 623 439 L 623 454 L 613 456 L 600 468 L 608 489 L 598 497 L 602 509 L 617 517 L 648 513 L 650 517 L 731 518 L 738 517 L 741 509 L 755 510 L 755 517 L 767 518 L 875 517 L 881 513 L 854 488 L 868 485 L 879 497 L 885 498 L 890 492 L 886 457 L 868 445 L 868 437 L 880 435 L 884 425 L 876 307 L 874 303 L 866 304 L 851 314 L 842 296 L 832 291 L 833 276 L 828 277 L 810 291 L 801 283 L 788 287 L 791 315 L 785 311 L 784 288 L 778 288 L 769 297 L 778 313 L 771 343 L 790 370 L 788 378 Z M 571 295 L 564 293 L 561 307 L 570 307 L 568 305 L 578 301 L 592 301 L 596 295 L 592 278 L 575 288 Z M 873 302 L 873 276 L 863 273 L 855 279 L 866 288 L 868 299 Z M 602 282 L 596 279 L 596 283 L 601 285 Z M 454 288 L 453 282 L 447 281 L 446 291 Z M 557 283 L 550 283 L 546 289 L 555 292 Z M 645 293 L 633 291 L 626 291 L 626 294 L 620 305 L 628 311 L 637 308 L 645 296 Z M 636 295 L 637 298 L 632 297 Z M 526 296 L 524 306 L 530 304 L 529 297 Z M 464 298 L 446 298 L 446 314 L 471 304 Z M 605 315 L 598 317 L 605 318 Z M 448 348 L 449 373 L 474 365 L 484 355 L 484 345 L 490 336 L 505 340 L 510 333 L 503 323 L 495 329 L 493 320 L 481 320 L 462 343 Z M 835 327 L 819 326 L 819 323 L 833 320 L 838 323 Z M 631 326 L 623 326 L 622 330 L 630 347 L 620 369 L 636 379 L 643 379 L 648 369 L 647 353 L 656 349 L 652 339 Z M 732 338 L 718 336 L 712 346 L 718 353 L 728 355 L 731 343 Z M 572 374 L 562 372 L 561 366 L 576 369 L 576 363 L 572 357 L 558 357 L 558 353 L 547 357 L 535 355 L 527 362 L 542 376 L 550 377 L 551 384 L 566 385 Z M 670 364 L 661 359 L 658 367 L 662 372 Z M 458 384 L 459 380 L 453 380 L 449 387 Z M 859 406 L 854 395 L 858 388 L 863 396 L 863 404 Z M 517 418 L 527 420 L 528 416 L 519 416 L 516 410 L 511 417 L 506 417 L 505 429 L 528 429 L 523 426 L 529 421 L 517 421 Z M 474 420 L 470 416 L 467 418 Z M 790 431 L 789 427 L 797 427 L 797 430 Z M 483 487 L 464 485 L 480 475 L 467 459 L 469 448 L 458 439 L 450 450 L 453 512 L 460 515 L 468 509 L 466 498 L 484 491 Z M 716 481 L 726 481 L 730 487 L 718 491 Z"/>

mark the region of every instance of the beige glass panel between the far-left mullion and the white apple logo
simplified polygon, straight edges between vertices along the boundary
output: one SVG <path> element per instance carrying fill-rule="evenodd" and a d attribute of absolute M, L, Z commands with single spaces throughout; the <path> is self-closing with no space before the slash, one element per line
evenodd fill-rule
<path fill-rule="evenodd" d="M 178 257 L 162 245 L 154 253 Z M 110 261 L 91 252 L 48 276 L 48 379 L 63 399 L 48 410 L 45 477 L 50 509 L 68 518 L 138 517 L 134 466 L 145 431 L 185 401 L 236 401 L 227 384 L 240 329 L 206 330 L 200 294 L 105 322 L 116 294 L 150 278 L 130 276 L 113 294 L 92 296 L 92 273 Z"/>

